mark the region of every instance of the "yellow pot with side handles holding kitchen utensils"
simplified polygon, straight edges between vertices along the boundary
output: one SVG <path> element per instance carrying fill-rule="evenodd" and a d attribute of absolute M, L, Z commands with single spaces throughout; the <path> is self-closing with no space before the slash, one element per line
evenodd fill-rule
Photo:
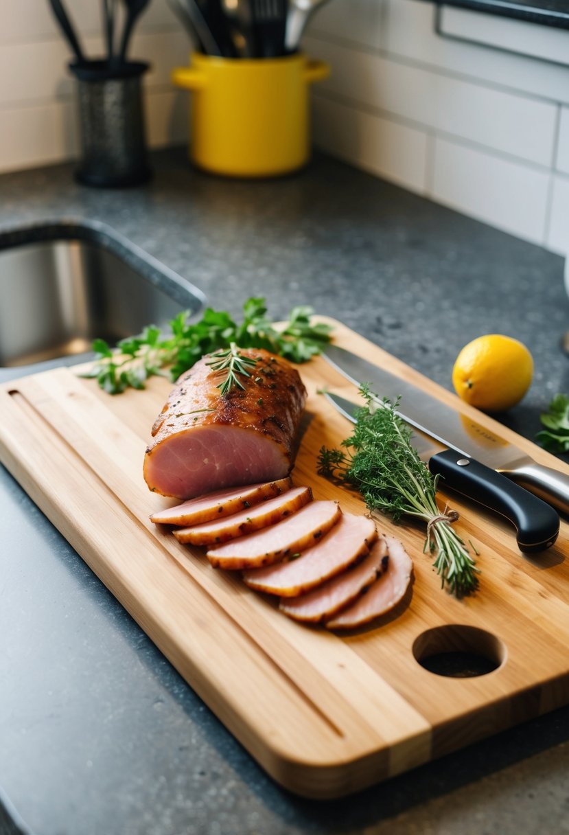
<path fill-rule="evenodd" d="M 268 177 L 301 168 L 310 155 L 309 84 L 328 64 L 305 55 L 217 58 L 194 53 L 174 69 L 192 90 L 189 156 L 215 174 Z"/>

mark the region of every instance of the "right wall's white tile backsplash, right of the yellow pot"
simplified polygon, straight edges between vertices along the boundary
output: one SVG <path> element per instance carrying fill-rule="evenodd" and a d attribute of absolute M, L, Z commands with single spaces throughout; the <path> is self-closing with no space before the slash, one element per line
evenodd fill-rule
<path fill-rule="evenodd" d="M 441 37 L 435 7 L 423 0 L 380 0 L 375 14 L 365 0 L 346 0 L 342 13 L 340 5 L 331 0 L 304 41 L 332 66 L 321 92 L 320 85 L 315 89 L 319 143 L 385 179 L 569 255 L 569 177 L 562 176 L 569 175 L 569 67 L 496 48 L 499 33 L 492 27 L 502 21 L 491 15 L 472 17 L 473 33 L 476 23 L 494 38 L 487 46 Z M 350 22 L 348 5 L 357 22 Z M 461 11 L 463 22 L 468 14 Z M 546 27 L 537 35 L 546 52 L 547 38 L 551 51 L 553 41 L 569 38 Z M 512 27 L 508 37 L 508 48 L 521 53 L 535 44 L 527 25 Z M 354 125 L 345 124 L 350 112 Z M 367 144 L 362 124 L 370 132 Z M 397 148 L 397 139 L 396 163 L 380 163 L 377 138 L 397 136 L 403 127 L 424 149 L 419 163 L 416 149 Z M 400 175 L 408 166 L 412 185 Z"/>

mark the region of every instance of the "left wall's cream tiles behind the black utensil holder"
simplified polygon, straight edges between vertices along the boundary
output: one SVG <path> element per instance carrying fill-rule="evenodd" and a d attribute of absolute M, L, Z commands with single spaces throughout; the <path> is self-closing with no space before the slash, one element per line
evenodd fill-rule
<path fill-rule="evenodd" d="M 84 52 L 92 58 L 101 55 L 100 3 L 75 0 L 68 12 Z M 0 171 L 75 158 L 76 88 L 68 72 L 73 55 L 47 0 L 0 0 L 0 19 Z M 173 88 L 170 72 L 188 63 L 190 50 L 168 4 L 150 3 L 138 20 L 128 54 L 150 64 L 144 104 L 151 147 L 187 139 L 189 97 Z"/>

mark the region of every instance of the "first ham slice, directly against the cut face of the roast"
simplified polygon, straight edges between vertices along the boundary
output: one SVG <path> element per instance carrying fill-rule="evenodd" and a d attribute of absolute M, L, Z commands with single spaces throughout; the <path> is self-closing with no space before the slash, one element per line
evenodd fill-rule
<path fill-rule="evenodd" d="M 222 519 L 236 514 L 239 510 L 252 508 L 266 498 L 281 495 L 291 487 L 290 478 L 279 478 L 278 481 L 251 484 L 229 490 L 216 490 L 205 496 L 190 498 L 188 502 L 177 504 L 175 508 L 159 510 L 158 513 L 152 514 L 150 521 L 156 524 L 202 524 L 212 519 Z"/>

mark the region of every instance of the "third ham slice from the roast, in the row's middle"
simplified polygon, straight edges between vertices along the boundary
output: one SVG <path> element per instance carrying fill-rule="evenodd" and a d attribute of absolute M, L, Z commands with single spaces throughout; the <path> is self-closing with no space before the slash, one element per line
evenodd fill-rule
<path fill-rule="evenodd" d="M 340 519 L 337 502 L 310 502 L 268 529 L 241 536 L 208 551 L 215 568 L 249 569 L 298 554 L 324 536 Z"/>

